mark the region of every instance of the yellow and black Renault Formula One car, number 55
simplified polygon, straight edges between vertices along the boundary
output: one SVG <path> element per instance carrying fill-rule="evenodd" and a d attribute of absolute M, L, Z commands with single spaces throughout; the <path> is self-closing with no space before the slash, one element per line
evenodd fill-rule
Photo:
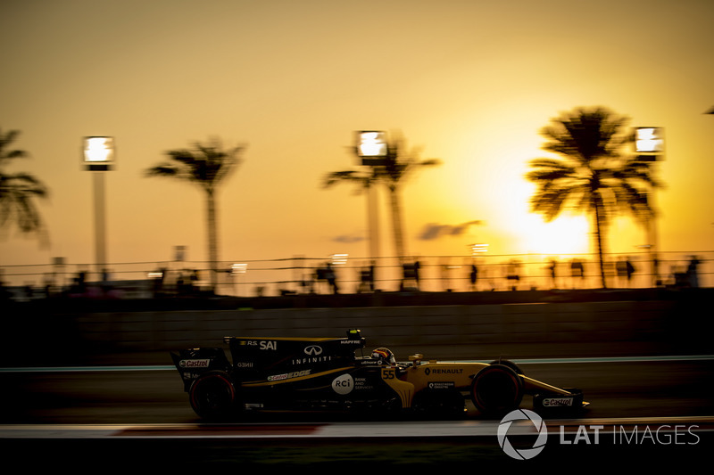
<path fill-rule="evenodd" d="M 223 348 L 171 353 L 196 414 L 226 421 L 246 411 L 337 410 L 381 414 L 465 414 L 470 397 L 480 414 L 500 416 L 532 395 L 535 408 L 582 408 L 578 389 L 560 389 L 523 374 L 509 361 L 460 363 L 410 356 L 397 363 L 388 348 L 365 347 L 359 330 L 346 338 L 226 337 Z M 362 353 L 360 351 L 360 353 Z"/>

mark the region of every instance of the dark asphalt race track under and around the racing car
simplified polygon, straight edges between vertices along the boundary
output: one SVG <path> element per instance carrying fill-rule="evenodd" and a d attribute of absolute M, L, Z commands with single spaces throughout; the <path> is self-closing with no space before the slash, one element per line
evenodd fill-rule
<path fill-rule="evenodd" d="M 710 458 L 714 356 L 518 363 L 535 379 L 583 389 L 591 403 L 566 418 L 544 414 L 546 442 L 528 460 L 506 455 L 497 438 L 500 421 L 473 412 L 457 421 L 265 414 L 240 424 L 205 424 L 169 366 L 2 369 L 0 438 L 6 460 L 22 457 L 37 468 L 493 463 L 535 469 L 586 462 L 602 468 L 684 463 L 684 469 Z M 526 398 L 521 407 L 529 403 Z M 513 423 L 507 435 L 517 453 L 534 446 L 534 428 Z"/>

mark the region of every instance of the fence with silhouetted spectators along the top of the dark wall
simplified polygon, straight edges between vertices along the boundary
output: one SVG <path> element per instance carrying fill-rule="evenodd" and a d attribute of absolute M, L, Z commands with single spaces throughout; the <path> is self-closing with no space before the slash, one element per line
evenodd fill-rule
<path fill-rule="evenodd" d="M 714 251 L 608 254 L 605 287 L 711 287 Z M 627 271 L 629 263 L 630 271 Z M 0 266 L 5 291 L 16 298 L 88 291 L 124 298 L 151 298 L 212 289 L 205 261 Z M 531 254 L 419 256 L 418 258 L 325 258 L 222 260 L 215 292 L 237 297 L 371 291 L 519 291 L 602 288 L 594 255 L 553 258 Z M 334 276 L 334 278 L 333 278 Z"/>

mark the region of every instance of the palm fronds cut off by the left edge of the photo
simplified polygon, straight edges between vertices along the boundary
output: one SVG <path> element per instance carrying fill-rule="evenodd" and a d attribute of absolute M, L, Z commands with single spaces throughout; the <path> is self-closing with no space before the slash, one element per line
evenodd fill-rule
<path fill-rule="evenodd" d="M 28 173 L 7 174 L 3 169 L 12 159 L 28 156 L 25 151 L 9 148 L 18 135 L 18 130 L 0 130 L 0 227 L 14 224 L 22 233 L 42 233 L 34 199 L 46 197 L 46 186 Z M 44 233 L 42 237 L 46 239 Z"/>

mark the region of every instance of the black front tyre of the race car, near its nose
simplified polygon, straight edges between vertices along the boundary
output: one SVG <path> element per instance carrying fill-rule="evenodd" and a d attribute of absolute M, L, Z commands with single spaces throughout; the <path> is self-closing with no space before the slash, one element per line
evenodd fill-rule
<path fill-rule="evenodd" d="M 520 405 L 523 380 L 510 366 L 491 364 L 478 372 L 471 384 L 471 400 L 479 413 L 502 416 Z"/>

